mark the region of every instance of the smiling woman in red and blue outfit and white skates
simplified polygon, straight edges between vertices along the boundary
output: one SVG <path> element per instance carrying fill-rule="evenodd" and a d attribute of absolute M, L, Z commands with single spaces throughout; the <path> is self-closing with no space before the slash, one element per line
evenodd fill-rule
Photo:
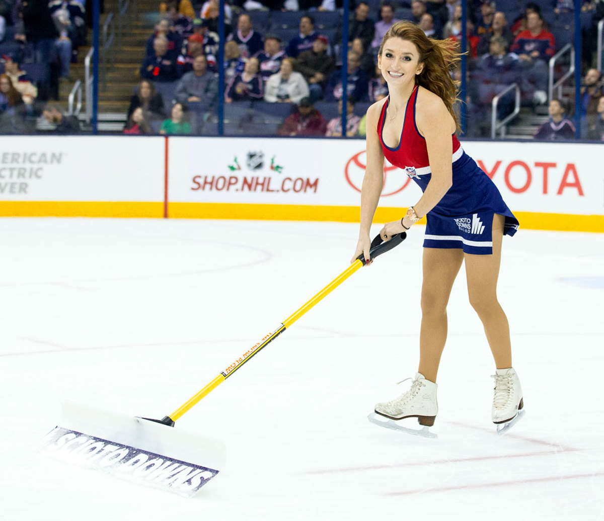
<path fill-rule="evenodd" d="M 402 219 L 384 225 L 382 240 L 428 219 L 423 242 L 419 369 L 411 389 L 378 403 L 377 414 L 417 417 L 431 426 L 438 412 L 436 376 L 447 336 L 446 305 L 463 262 L 469 299 L 484 325 L 496 364 L 492 420 L 512 420 L 522 389 L 512 368 L 507 318 L 496 297 L 504 234 L 518 221 L 489 177 L 463 152 L 455 84 L 449 69 L 459 55 L 451 40 L 433 40 L 416 25 L 399 22 L 385 34 L 377 57 L 390 95 L 367 110 L 367 168 L 361 193 L 361 230 L 353 260 L 370 261 L 370 226 L 384 184 L 384 158 L 403 168 L 423 195 Z"/>

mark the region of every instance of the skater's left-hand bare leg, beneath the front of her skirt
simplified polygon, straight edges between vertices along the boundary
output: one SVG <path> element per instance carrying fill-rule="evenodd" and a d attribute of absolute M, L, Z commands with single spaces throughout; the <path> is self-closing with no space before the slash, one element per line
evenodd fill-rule
<path fill-rule="evenodd" d="M 462 262 L 461 249 L 423 249 L 422 327 L 418 371 L 431 382 L 436 382 L 440 356 L 445 348 L 446 308 Z"/>

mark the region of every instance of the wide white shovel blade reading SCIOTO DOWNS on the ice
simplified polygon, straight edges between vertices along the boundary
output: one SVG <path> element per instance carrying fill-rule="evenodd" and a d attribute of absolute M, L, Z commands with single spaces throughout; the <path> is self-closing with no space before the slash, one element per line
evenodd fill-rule
<path fill-rule="evenodd" d="M 192 496 L 224 467 L 221 441 L 155 421 L 62 400 L 62 417 L 42 439 L 40 452 Z"/>

